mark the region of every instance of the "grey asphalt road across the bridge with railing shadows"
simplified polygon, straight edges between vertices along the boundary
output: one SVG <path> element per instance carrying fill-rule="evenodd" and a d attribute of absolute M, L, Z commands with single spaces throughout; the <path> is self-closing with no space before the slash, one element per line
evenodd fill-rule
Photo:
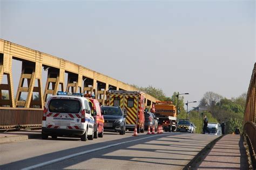
<path fill-rule="evenodd" d="M 58 138 L 0 144 L 0 169 L 182 169 L 215 135 L 105 133 L 80 141 Z"/>

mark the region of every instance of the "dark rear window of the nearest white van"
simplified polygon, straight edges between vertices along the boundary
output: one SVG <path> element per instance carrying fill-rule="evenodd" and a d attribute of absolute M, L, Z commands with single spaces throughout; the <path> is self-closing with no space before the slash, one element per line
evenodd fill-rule
<path fill-rule="evenodd" d="M 48 108 L 55 113 L 79 113 L 81 104 L 79 100 L 51 99 Z"/>

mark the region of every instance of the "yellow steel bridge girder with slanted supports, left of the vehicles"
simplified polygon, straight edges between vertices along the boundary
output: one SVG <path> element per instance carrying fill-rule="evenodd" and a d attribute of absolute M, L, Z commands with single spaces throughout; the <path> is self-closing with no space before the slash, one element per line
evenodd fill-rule
<path fill-rule="evenodd" d="M 12 81 L 12 59 L 22 61 L 22 73 L 16 98 L 14 98 L 14 85 Z M 43 67 L 45 70 L 48 70 L 44 90 L 42 85 Z M 28 70 L 30 71 L 28 72 Z M 71 90 L 72 92 L 95 94 L 101 104 L 104 104 L 106 99 L 106 91 L 111 88 L 114 90 L 137 91 L 136 88 L 129 84 L 68 60 L 0 39 L 0 101 L 1 104 L 3 103 L 0 107 L 4 105 L 25 108 L 37 106 L 42 109 L 48 95 L 56 95 L 57 91 L 64 91 L 65 73 L 68 73 L 66 91 Z M 8 84 L 2 84 L 3 75 L 8 77 Z M 24 87 L 25 80 L 28 80 L 28 87 Z M 35 87 L 36 81 L 37 87 Z M 8 90 L 9 100 L 2 99 L 2 90 Z M 22 92 L 28 93 L 25 101 L 20 100 Z M 38 93 L 39 99 L 33 99 L 33 92 Z M 145 98 L 147 99 L 147 106 L 151 106 L 157 100 L 149 94 L 145 94 Z"/>

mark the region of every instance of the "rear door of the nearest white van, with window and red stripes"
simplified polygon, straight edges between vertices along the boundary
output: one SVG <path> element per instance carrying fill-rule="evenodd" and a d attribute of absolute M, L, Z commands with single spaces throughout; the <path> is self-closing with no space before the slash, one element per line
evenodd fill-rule
<path fill-rule="evenodd" d="M 80 129 L 82 104 L 76 98 L 52 98 L 46 114 L 46 128 Z"/>

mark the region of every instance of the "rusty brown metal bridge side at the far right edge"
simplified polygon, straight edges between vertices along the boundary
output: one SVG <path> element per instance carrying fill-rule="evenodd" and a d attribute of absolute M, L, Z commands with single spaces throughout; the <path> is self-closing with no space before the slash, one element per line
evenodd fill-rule
<path fill-rule="evenodd" d="M 252 71 L 252 77 L 250 85 L 247 91 L 246 105 L 245 105 L 245 114 L 244 114 L 244 133 L 247 138 L 247 142 L 250 152 L 253 165 L 255 165 L 255 153 L 256 153 L 256 118 L 255 118 L 255 80 L 256 80 L 256 63 Z"/>

